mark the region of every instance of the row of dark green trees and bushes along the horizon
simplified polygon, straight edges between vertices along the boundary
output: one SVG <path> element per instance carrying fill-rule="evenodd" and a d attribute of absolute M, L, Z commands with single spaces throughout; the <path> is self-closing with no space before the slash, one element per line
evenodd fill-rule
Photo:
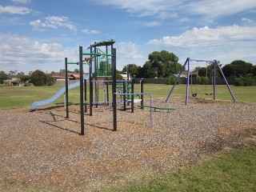
<path fill-rule="evenodd" d="M 174 74 L 178 74 L 182 70 L 182 65 L 178 62 L 178 57 L 174 53 L 170 53 L 167 50 L 154 51 L 149 54 L 148 60 L 143 66 L 136 64 L 128 64 L 122 68 L 121 71 L 117 70 L 118 79 L 122 78 L 123 72 L 129 72 L 134 78 L 169 78 L 170 83 L 174 82 Z M 222 72 L 226 78 L 233 77 L 237 86 L 253 86 L 256 85 L 256 66 L 253 66 L 250 62 L 244 62 L 242 60 L 235 60 L 230 64 L 222 66 Z M 205 67 L 197 66 L 194 71 L 198 72 L 198 76 L 201 77 L 201 82 L 206 83 L 207 78 L 212 76 L 214 70 L 213 64 L 206 65 Z M 60 70 L 60 73 L 64 73 L 65 70 Z M 74 71 L 78 73 L 79 70 Z M 16 74 L 17 70 L 10 71 L 10 74 Z M 54 71 L 51 72 L 53 74 Z M 42 76 L 38 80 L 37 76 Z M 22 82 L 30 81 L 34 85 L 50 85 L 54 83 L 54 79 L 47 74 L 44 74 L 40 70 L 30 71 L 29 75 L 24 73 L 18 73 Z M 217 68 L 217 76 L 222 77 L 220 71 Z M 0 80 L 7 79 L 8 75 L 4 71 L 0 72 Z"/>

